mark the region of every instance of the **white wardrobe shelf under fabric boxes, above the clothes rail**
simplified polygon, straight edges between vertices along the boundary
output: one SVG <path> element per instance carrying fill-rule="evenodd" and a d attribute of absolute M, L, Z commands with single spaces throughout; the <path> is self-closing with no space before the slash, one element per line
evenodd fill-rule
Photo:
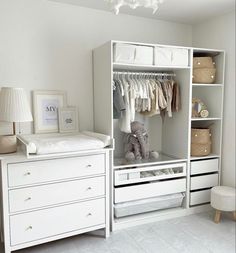
<path fill-rule="evenodd" d="M 154 66 L 154 65 L 135 65 L 127 63 L 113 63 L 113 70 L 140 70 L 140 71 L 173 71 L 175 69 L 190 69 L 189 66 Z"/>

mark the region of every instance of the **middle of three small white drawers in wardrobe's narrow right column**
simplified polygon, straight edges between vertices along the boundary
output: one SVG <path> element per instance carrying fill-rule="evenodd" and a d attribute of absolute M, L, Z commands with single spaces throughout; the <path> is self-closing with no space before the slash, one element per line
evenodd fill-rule
<path fill-rule="evenodd" d="M 210 188 L 218 185 L 218 174 L 191 177 L 191 190 Z"/>

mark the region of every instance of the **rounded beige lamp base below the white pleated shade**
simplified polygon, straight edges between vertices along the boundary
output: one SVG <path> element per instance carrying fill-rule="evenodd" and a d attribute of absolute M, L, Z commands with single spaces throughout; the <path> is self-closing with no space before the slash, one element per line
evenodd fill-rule
<path fill-rule="evenodd" d="M 14 153 L 17 150 L 16 135 L 0 136 L 0 154 Z"/>

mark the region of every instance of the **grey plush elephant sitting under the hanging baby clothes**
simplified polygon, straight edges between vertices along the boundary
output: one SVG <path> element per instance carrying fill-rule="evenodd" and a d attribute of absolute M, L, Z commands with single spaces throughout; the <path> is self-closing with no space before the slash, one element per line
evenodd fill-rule
<path fill-rule="evenodd" d="M 149 151 L 148 134 L 144 124 L 131 123 L 131 133 L 125 135 L 125 158 L 128 161 L 148 158 L 158 158 L 156 151 Z"/>

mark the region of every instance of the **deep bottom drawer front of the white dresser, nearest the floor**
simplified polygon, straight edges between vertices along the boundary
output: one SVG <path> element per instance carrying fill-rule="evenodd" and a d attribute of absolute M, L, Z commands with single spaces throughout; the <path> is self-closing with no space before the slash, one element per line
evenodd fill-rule
<path fill-rule="evenodd" d="M 105 223 L 105 199 L 91 200 L 10 217 L 11 245 Z"/>

